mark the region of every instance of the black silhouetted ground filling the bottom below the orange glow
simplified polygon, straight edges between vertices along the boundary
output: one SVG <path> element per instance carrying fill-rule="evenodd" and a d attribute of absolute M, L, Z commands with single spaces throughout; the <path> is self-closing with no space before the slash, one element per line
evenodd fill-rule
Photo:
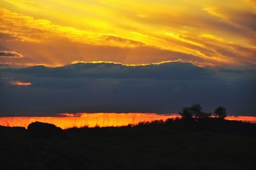
<path fill-rule="evenodd" d="M 0 127 L 0 169 L 255 169 L 256 125 L 169 120 L 121 128 Z"/>

